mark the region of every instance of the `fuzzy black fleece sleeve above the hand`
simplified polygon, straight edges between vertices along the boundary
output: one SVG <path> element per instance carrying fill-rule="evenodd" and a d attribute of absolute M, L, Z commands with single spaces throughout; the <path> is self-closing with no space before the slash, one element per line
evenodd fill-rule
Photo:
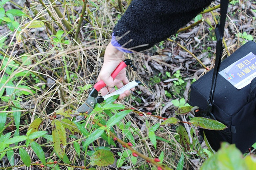
<path fill-rule="evenodd" d="M 112 35 L 120 46 L 143 51 L 176 33 L 212 1 L 132 0 Z"/>

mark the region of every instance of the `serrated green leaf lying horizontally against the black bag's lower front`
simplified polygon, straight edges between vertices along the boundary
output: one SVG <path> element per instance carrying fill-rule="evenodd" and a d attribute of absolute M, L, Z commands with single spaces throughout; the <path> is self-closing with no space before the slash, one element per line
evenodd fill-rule
<path fill-rule="evenodd" d="M 196 127 L 208 130 L 223 130 L 227 128 L 223 123 L 206 117 L 192 117 L 189 122 Z"/>

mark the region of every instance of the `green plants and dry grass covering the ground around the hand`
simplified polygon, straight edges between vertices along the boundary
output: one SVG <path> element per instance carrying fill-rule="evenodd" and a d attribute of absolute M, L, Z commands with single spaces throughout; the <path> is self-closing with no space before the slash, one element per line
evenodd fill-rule
<path fill-rule="evenodd" d="M 76 109 L 96 83 L 112 29 L 131 0 L 20 2 L 0 2 L 0 169 L 181 170 L 199 168 L 208 157 L 220 156 L 197 136 L 193 122 L 206 120 L 196 120 L 194 108 L 185 105 L 187 86 L 200 75 L 189 78 L 189 71 L 206 72 L 213 65 L 202 63 L 188 49 L 190 42 L 177 34 L 151 51 L 127 54 L 138 67 L 137 72 L 128 68 L 128 77 L 144 86 L 118 104 L 112 104 L 114 96 L 97 105 L 78 123 L 74 120 L 81 113 Z M 197 17 L 179 32 L 211 28 L 214 16 Z M 232 42 L 238 38 L 239 46 L 252 35 L 255 31 L 241 31 Z M 210 42 L 213 36 L 204 34 L 201 40 L 207 37 Z M 193 43 L 197 55 L 205 51 L 214 55 L 210 43 L 204 43 L 202 50 L 197 47 Z M 229 43 L 224 53 L 233 49 Z M 190 56 L 193 66 L 179 66 L 185 60 L 176 51 Z M 159 68 L 158 75 L 152 74 Z M 216 123 L 213 129 L 219 126 Z M 241 156 L 232 145 L 222 147 L 231 148 L 237 159 Z M 253 164 L 251 157 L 239 161 Z"/>

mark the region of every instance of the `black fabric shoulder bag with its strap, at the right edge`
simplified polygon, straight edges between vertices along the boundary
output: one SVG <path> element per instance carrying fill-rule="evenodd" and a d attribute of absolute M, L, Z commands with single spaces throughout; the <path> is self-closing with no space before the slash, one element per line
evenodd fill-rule
<path fill-rule="evenodd" d="M 256 43 L 247 42 L 220 64 L 227 6 L 228 0 L 221 0 L 221 21 L 215 29 L 217 47 L 214 70 L 210 70 L 192 84 L 188 103 L 199 107 L 200 111 L 196 112 L 196 116 L 216 119 L 228 127 L 223 131 L 204 130 L 214 150 L 218 150 L 220 143 L 226 141 L 230 144 L 234 143 L 241 152 L 246 152 L 256 142 L 256 78 L 254 78 L 256 77 L 256 62 L 252 59 L 256 55 Z M 248 57 L 243 58 L 248 54 L 251 55 L 252 62 L 248 60 Z M 239 62 L 236 63 L 236 61 Z M 240 61 L 244 66 L 239 65 Z M 232 67 L 233 70 L 231 69 L 232 71 L 236 69 L 234 74 L 232 71 L 226 72 L 226 68 L 233 63 L 236 63 L 236 66 Z M 247 68 L 250 70 L 246 71 Z M 239 80 L 238 77 L 244 78 L 247 74 L 249 75 L 249 72 L 250 74 L 254 72 L 255 76 L 253 74 L 250 78 L 246 77 L 244 80 L 250 84 L 239 90 L 228 81 L 232 78 L 236 80 Z M 244 82 L 246 81 L 236 86 L 241 87 Z"/>

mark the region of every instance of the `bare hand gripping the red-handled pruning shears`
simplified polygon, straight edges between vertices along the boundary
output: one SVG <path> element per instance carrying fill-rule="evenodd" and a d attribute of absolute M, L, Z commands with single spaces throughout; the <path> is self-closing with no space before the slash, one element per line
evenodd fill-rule
<path fill-rule="evenodd" d="M 110 91 L 114 92 L 115 89 L 112 89 L 114 86 L 117 88 L 122 88 L 124 85 L 129 83 L 126 76 L 126 68 L 123 68 L 115 79 L 111 77 L 112 72 L 122 61 L 124 61 L 123 53 L 109 43 L 105 51 L 103 66 L 97 79 L 98 81 L 103 80 L 103 82 L 107 85 L 107 87 L 100 90 L 102 96 L 108 94 Z M 130 90 L 126 90 L 124 94 L 120 94 L 118 99 L 123 99 L 125 96 L 129 95 Z"/>

